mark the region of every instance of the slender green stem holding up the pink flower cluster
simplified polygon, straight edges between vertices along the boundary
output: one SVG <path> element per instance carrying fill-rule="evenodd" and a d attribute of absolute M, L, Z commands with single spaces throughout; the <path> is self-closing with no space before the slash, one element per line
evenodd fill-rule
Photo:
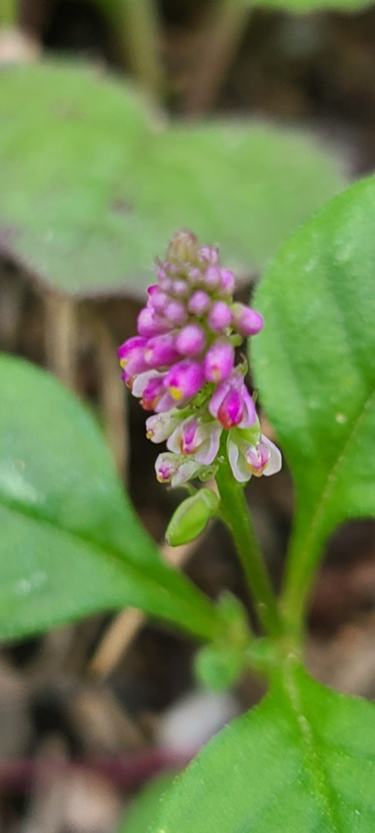
<path fill-rule="evenodd" d="M 283 622 L 279 615 L 276 596 L 253 529 L 243 486 L 233 476 L 228 460 L 220 464 L 216 481 L 222 501 L 221 516 L 232 532 L 243 571 L 255 599 L 259 620 L 270 636 L 280 636 L 283 632 Z"/>

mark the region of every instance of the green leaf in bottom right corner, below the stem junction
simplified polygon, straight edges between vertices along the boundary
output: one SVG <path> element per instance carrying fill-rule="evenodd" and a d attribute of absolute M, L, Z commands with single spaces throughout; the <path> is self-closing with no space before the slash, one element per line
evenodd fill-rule
<path fill-rule="evenodd" d="M 375 706 L 293 665 L 178 778 L 149 833 L 373 833 Z"/>

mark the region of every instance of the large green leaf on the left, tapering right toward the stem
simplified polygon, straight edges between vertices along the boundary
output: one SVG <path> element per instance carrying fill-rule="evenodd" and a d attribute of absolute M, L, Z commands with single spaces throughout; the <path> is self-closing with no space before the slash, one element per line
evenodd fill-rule
<path fill-rule="evenodd" d="M 80 402 L 15 358 L 0 386 L 0 636 L 128 605 L 215 636 L 218 614 L 161 560 Z"/>

